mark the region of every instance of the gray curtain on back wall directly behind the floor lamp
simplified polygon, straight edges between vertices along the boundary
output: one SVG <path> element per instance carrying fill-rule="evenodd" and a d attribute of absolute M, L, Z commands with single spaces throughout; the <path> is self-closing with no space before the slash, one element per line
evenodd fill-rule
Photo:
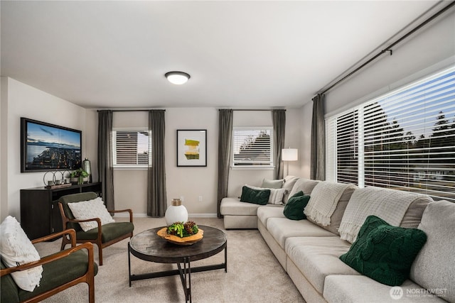
<path fill-rule="evenodd" d="M 274 143 L 273 160 L 275 163 L 274 178 L 282 179 L 284 170 L 282 161 L 282 149 L 284 148 L 284 136 L 286 136 L 286 110 L 273 109 L 272 122 Z"/>

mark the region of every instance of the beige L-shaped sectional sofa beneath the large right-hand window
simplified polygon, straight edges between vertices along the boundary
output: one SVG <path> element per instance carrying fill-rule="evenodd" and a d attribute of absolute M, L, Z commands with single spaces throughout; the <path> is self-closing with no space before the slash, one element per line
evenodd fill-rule
<path fill-rule="evenodd" d="M 282 205 L 240 202 L 237 197 L 224 198 L 220 210 L 225 228 L 258 228 L 306 302 L 455 302 L 454 203 L 434 202 L 422 194 L 394 189 L 358 188 L 291 176 L 284 179 L 283 188 L 289 191 L 284 204 L 299 191 L 310 196 L 304 211 L 306 219 L 287 219 Z M 412 257 L 410 275 L 399 287 L 369 277 L 372 274 L 365 273 L 366 262 L 359 270 L 365 272 L 360 273 L 340 259 L 354 248 L 365 255 L 366 250 L 379 247 L 360 245 L 373 235 L 367 233 L 367 218 L 382 219 L 392 229 L 401 226 L 395 228 L 400 232 L 414 231 L 403 228 L 417 228 L 420 234 L 424 231 L 426 242 Z M 387 224 L 380 228 L 389 228 Z M 406 255 L 415 243 L 413 238 L 395 246 L 392 243 L 382 255 L 388 258 L 395 250 Z M 401 264 L 386 265 L 393 269 Z M 381 267 L 373 268 L 373 276 L 387 271 Z"/>

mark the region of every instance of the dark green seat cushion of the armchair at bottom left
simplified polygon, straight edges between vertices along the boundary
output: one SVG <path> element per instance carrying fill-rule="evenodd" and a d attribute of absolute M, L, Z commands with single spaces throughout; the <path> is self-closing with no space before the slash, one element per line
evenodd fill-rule
<path fill-rule="evenodd" d="M 96 263 L 94 263 L 94 266 L 96 275 L 98 266 Z M 18 290 L 19 298 L 23 301 L 58 287 L 59 285 L 75 280 L 78 277 L 82 277 L 82 275 L 85 275 L 85 272 L 87 272 L 87 267 L 88 258 L 85 250 L 77 250 L 75 253 L 68 255 L 68 257 L 45 264 L 43 265 L 43 277 L 41 277 L 40 286 L 36 287 L 33 292 Z M 1 292 L 1 302 L 10 302 L 3 300 L 3 287 Z"/>

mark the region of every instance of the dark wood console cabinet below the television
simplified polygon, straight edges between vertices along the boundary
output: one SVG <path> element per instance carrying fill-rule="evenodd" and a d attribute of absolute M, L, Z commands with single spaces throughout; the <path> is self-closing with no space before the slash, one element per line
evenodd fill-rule
<path fill-rule="evenodd" d="M 101 195 L 101 182 L 77 184 L 70 187 L 21 189 L 21 226 L 28 238 L 36 239 L 62 231 L 58 199 L 66 194 L 96 192 Z"/>

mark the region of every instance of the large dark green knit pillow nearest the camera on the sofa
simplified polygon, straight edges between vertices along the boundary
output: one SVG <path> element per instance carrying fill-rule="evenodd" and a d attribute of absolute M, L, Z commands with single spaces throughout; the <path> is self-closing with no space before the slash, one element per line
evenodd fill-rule
<path fill-rule="evenodd" d="M 420 229 L 391 226 L 377 216 L 368 216 L 357 240 L 340 259 L 382 284 L 402 285 L 426 241 L 427 234 Z"/>

